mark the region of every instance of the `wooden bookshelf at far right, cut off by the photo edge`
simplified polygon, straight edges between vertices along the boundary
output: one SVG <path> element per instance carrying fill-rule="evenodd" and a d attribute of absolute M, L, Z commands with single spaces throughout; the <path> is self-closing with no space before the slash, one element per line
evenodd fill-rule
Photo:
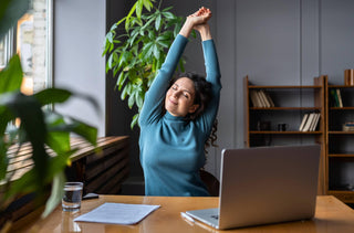
<path fill-rule="evenodd" d="M 327 77 L 326 77 L 327 78 Z M 341 92 L 343 107 L 336 106 L 332 89 Z M 354 203 L 354 131 L 343 124 L 354 121 L 354 86 L 326 84 L 326 194 Z"/>

